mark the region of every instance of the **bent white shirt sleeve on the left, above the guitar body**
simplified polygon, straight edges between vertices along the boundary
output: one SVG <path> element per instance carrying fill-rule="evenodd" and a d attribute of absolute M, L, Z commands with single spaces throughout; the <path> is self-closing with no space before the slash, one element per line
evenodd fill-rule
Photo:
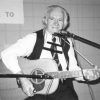
<path fill-rule="evenodd" d="M 28 34 L 1 52 L 3 63 L 12 73 L 16 74 L 21 71 L 17 58 L 28 56 L 32 52 L 35 42 L 36 34 Z"/>

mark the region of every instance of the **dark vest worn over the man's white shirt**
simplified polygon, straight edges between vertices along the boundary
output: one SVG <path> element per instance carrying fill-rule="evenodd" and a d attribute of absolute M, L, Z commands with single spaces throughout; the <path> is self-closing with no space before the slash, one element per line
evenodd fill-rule
<path fill-rule="evenodd" d="M 40 55 L 41 55 L 41 52 L 43 49 L 43 45 L 44 45 L 43 29 L 36 31 L 35 33 L 37 33 L 36 43 L 35 43 L 32 53 L 27 57 L 27 59 L 30 59 L 30 60 L 40 58 Z M 66 41 L 68 42 L 67 39 L 66 39 Z M 67 61 L 69 61 L 69 57 L 68 57 L 69 45 L 67 43 L 64 43 L 63 40 L 61 41 L 61 45 L 62 45 L 62 49 L 64 51 L 65 58 Z"/>

